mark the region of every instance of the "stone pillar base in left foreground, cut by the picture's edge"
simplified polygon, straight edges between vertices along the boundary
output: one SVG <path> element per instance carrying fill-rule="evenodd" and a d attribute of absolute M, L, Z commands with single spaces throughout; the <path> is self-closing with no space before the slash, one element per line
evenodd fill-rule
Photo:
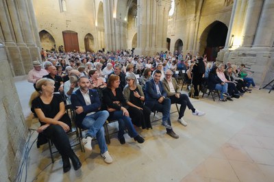
<path fill-rule="evenodd" d="M 14 181 L 27 138 L 27 127 L 8 57 L 0 44 L 0 179 Z"/>

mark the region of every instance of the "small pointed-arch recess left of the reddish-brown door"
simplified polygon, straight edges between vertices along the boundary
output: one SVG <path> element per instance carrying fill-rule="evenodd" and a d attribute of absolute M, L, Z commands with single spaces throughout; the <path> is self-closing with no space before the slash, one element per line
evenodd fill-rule
<path fill-rule="evenodd" d="M 55 51 L 55 40 L 49 32 L 45 31 L 43 29 L 39 32 L 40 42 L 42 48 L 44 48 L 47 51 Z"/>

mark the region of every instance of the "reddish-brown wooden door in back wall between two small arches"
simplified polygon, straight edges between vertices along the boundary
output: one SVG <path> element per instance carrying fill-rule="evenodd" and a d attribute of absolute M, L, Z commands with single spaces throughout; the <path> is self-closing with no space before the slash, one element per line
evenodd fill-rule
<path fill-rule="evenodd" d="M 62 31 L 64 40 L 64 50 L 66 52 L 79 52 L 78 34 L 75 31 Z"/>

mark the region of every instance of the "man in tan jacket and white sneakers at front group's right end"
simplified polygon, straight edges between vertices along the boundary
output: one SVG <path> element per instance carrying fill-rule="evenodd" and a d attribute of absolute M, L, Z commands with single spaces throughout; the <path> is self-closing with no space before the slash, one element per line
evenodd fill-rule
<path fill-rule="evenodd" d="M 194 116 L 203 116 L 206 113 L 199 112 L 197 109 L 195 109 L 193 105 L 190 103 L 188 95 L 181 94 L 179 92 L 179 86 L 177 84 L 177 81 L 175 80 L 175 78 L 172 77 L 172 75 L 173 72 L 171 70 L 166 70 L 164 80 L 162 81 L 164 83 L 164 90 L 166 91 L 166 94 L 169 97 L 169 99 L 171 99 L 171 104 L 178 103 L 181 105 L 181 107 L 179 108 L 178 122 L 184 125 L 184 127 L 186 127 L 188 123 L 183 119 L 186 106 L 188 106 L 188 109 L 191 109 L 192 114 Z"/>

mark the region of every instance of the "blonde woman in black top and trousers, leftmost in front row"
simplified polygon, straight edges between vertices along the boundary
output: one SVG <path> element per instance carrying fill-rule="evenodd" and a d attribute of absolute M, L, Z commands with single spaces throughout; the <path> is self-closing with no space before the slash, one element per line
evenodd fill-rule
<path fill-rule="evenodd" d="M 42 78 L 37 81 L 38 92 L 32 95 L 32 112 L 39 119 L 39 135 L 49 138 L 62 156 L 63 171 L 71 170 L 71 159 L 74 170 L 81 168 L 79 158 L 73 152 L 66 132 L 71 130 L 71 119 L 65 112 L 64 101 L 60 94 L 53 94 L 54 81 Z"/>

